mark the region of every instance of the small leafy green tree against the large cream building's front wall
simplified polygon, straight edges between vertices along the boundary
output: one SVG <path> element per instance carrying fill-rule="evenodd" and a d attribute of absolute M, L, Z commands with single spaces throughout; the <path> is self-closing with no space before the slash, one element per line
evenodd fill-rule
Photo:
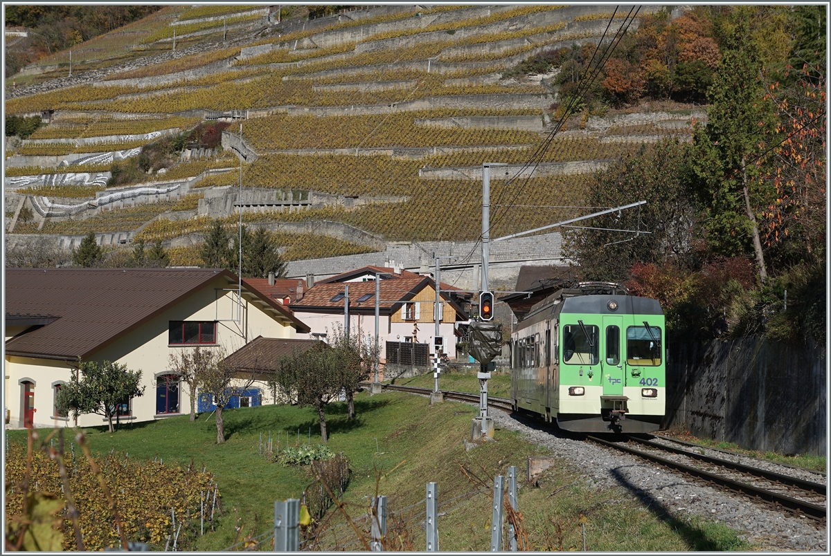
<path fill-rule="evenodd" d="M 101 415 L 113 432 L 112 419 L 116 417 L 118 406 L 144 395 L 145 387 L 140 387 L 140 382 L 141 371 L 131 371 L 125 364 L 85 361 L 57 393 L 56 405 L 58 411 L 72 411 L 76 416 Z"/>

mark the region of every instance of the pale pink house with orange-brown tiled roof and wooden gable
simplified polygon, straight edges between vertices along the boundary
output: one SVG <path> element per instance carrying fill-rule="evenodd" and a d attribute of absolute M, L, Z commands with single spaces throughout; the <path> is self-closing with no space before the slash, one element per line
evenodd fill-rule
<path fill-rule="evenodd" d="M 379 339 L 381 360 L 392 344 L 425 344 L 433 353 L 435 337 L 435 281 L 431 276 L 382 266 L 364 266 L 321 280 L 293 301 L 291 310 L 312 329 L 314 338 L 325 339 L 338 324 L 345 326 L 348 294 L 349 328 L 361 338 L 375 338 L 376 277 L 380 288 Z M 348 288 L 348 291 L 347 291 Z M 467 316 L 456 297 L 460 290 L 442 284 L 439 311 L 440 336 L 450 358 L 456 356 L 457 323 Z M 396 354 L 399 353 L 396 351 Z M 426 353 L 426 352 L 425 352 Z"/>

